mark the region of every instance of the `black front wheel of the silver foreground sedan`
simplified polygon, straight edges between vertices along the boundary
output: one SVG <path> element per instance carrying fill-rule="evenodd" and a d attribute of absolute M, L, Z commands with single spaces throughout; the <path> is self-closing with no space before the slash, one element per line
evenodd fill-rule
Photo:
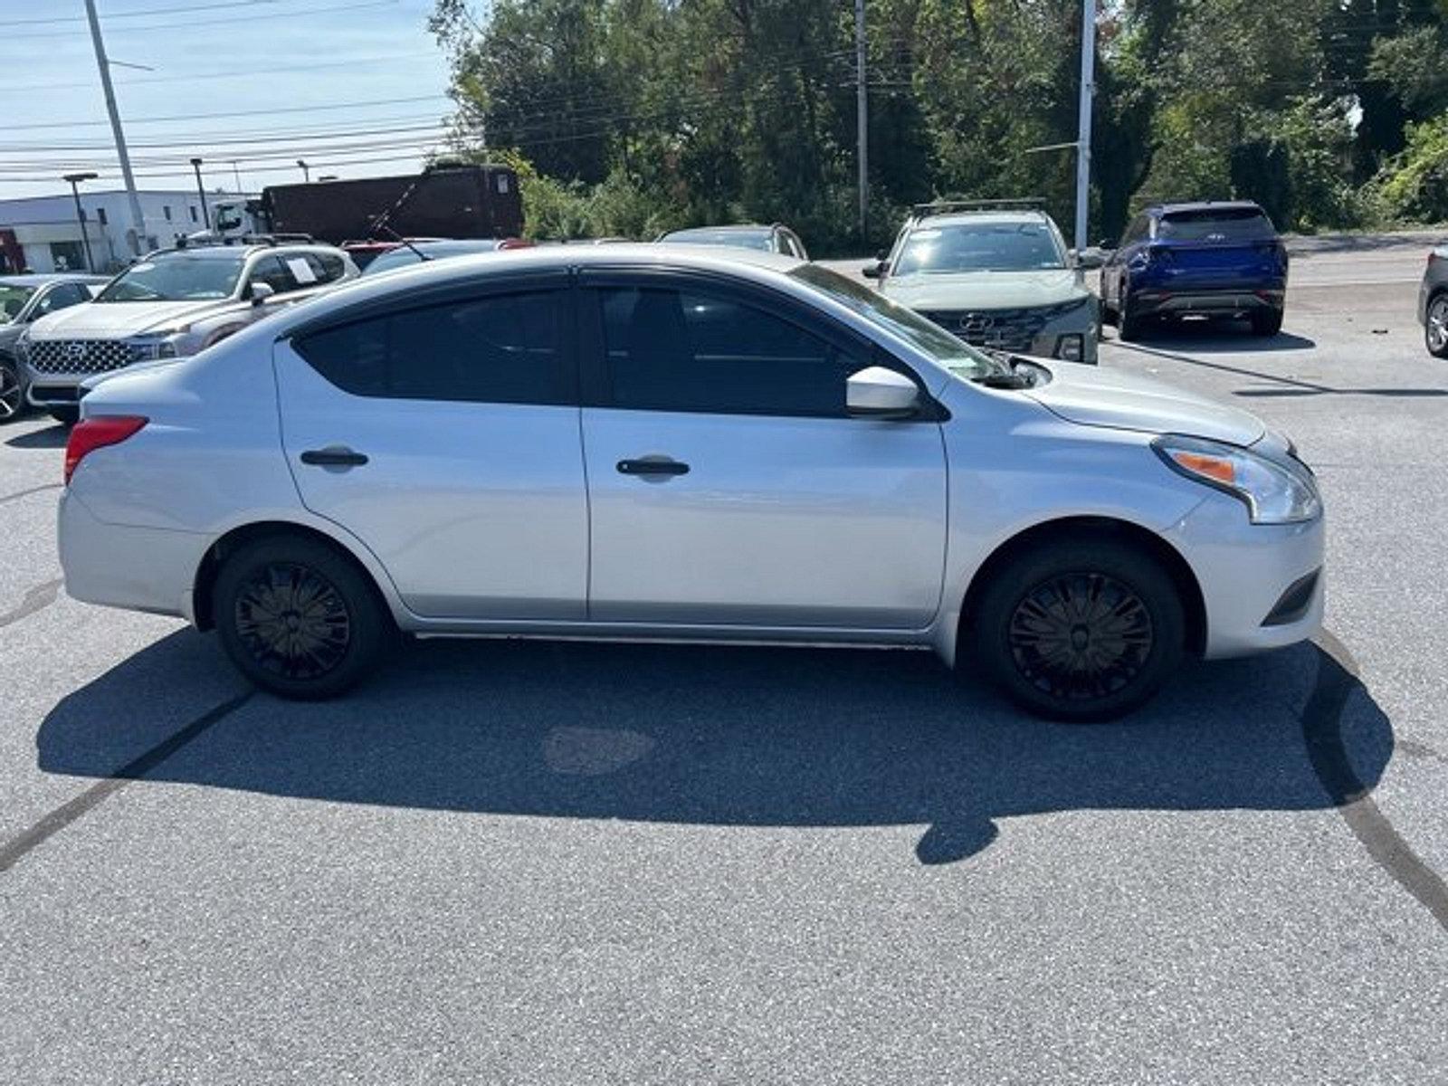
<path fill-rule="evenodd" d="M 1073 615 L 1073 604 L 1092 611 Z M 1180 666 L 1186 613 L 1171 576 L 1140 547 L 1045 542 L 992 576 L 966 644 L 985 676 L 1028 712 L 1115 720 L 1150 701 Z M 1098 666 L 1074 669 L 1092 663 L 1092 647 Z"/>

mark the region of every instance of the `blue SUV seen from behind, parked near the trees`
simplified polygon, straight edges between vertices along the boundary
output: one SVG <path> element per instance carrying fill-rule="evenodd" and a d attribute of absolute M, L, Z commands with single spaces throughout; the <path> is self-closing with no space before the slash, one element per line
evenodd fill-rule
<path fill-rule="evenodd" d="M 1245 317 L 1258 336 L 1276 336 L 1286 294 L 1287 248 L 1247 200 L 1154 204 L 1100 272 L 1106 320 L 1124 340 L 1148 320 L 1187 316 Z"/>

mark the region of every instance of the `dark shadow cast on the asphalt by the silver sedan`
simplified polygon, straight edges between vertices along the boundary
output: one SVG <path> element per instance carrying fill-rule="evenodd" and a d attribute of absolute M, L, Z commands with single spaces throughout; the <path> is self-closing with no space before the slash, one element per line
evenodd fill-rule
<path fill-rule="evenodd" d="M 217 656 L 178 631 L 71 694 L 39 728 L 41 769 L 126 776 L 158 712 L 201 718 L 223 701 Z M 181 678 L 194 675 L 211 678 Z M 1083 727 L 1028 718 L 925 653 L 421 641 L 346 698 L 258 694 L 133 772 L 550 818 L 918 824 L 918 859 L 948 863 L 1014 815 L 1350 802 L 1378 780 L 1393 731 L 1355 681 L 1309 727 L 1323 676 L 1345 672 L 1315 646 L 1192 665 L 1132 718 Z"/>

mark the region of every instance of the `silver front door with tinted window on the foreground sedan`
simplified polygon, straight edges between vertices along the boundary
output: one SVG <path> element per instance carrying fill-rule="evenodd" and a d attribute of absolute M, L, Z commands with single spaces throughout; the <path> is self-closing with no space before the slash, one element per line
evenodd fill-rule
<path fill-rule="evenodd" d="M 940 426 L 846 414 L 846 378 L 880 361 L 869 345 L 704 278 L 584 282 L 592 620 L 930 624 Z"/>

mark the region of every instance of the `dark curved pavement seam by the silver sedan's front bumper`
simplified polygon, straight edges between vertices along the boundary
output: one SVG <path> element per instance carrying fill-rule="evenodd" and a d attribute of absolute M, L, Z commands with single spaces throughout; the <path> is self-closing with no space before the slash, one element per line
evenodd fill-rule
<path fill-rule="evenodd" d="M 1322 650 L 1318 657 L 1318 679 L 1302 711 L 1302 737 L 1308 744 L 1312 770 L 1373 862 L 1448 930 L 1448 885 L 1397 833 L 1348 757 L 1342 740 L 1342 710 L 1352 692 L 1363 685 L 1357 660 L 1326 630 L 1318 634 L 1316 641 Z"/>

